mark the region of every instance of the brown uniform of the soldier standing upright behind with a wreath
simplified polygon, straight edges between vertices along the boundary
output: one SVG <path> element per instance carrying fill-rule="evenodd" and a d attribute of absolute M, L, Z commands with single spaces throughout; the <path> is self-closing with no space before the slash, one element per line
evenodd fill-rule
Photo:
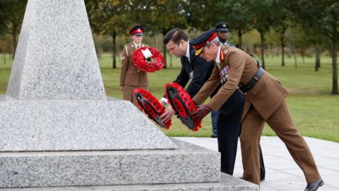
<path fill-rule="evenodd" d="M 141 47 L 147 45 L 141 44 Z M 136 98 L 132 95 L 135 88 L 143 88 L 148 91 L 147 72 L 139 71 L 132 62 L 132 55 L 136 52 L 136 46 L 133 43 L 124 46 L 121 53 L 121 74 L 120 87 L 124 87 L 124 100 L 137 104 Z"/>

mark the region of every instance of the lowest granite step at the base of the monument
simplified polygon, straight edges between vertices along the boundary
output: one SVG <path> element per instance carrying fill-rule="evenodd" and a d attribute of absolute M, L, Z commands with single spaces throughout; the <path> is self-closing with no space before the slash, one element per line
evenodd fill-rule
<path fill-rule="evenodd" d="M 4 188 L 1 191 L 259 191 L 259 186 L 221 173 L 218 183 Z"/>

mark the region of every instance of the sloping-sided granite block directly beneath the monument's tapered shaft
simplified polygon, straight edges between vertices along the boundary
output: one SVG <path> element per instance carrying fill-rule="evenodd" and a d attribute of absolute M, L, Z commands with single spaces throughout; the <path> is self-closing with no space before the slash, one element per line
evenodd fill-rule
<path fill-rule="evenodd" d="M 0 151 L 174 149 L 132 103 L 0 97 Z M 160 127 L 159 127 L 160 128 Z"/>

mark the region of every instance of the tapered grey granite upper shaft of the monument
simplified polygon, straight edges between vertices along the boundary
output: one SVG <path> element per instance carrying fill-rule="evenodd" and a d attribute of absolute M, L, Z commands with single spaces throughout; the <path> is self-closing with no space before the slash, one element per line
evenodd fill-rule
<path fill-rule="evenodd" d="M 7 96 L 106 99 L 83 0 L 28 1 Z"/>

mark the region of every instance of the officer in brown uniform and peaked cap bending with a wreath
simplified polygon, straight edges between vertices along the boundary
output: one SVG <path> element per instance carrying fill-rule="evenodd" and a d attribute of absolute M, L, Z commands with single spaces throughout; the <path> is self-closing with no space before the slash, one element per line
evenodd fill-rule
<path fill-rule="evenodd" d="M 212 28 L 190 41 L 196 49 L 196 54 L 201 53 L 201 57 L 207 61 L 215 60 L 215 68 L 210 79 L 193 98 L 194 103 L 199 105 L 198 110 L 193 113 L 194 120 L 202 119 L 211 110 L 219 110 L 239 88 L 246 94 L 240 136 L 244 180 L 260 183 L 259 141 L 263 123 L 267 122 L 285 143 L 293 159 L 304 172 L 307 180 L 305 190 L 317 190 L 323 185 L 323 180 L 309 147 L 292 122 L 285 102 L 286 89 L 258 66 L 246 52 L 235 47 L 220 46 L 214 32 Z M 222 87 L 204 105 L 203 102 L 218 86 L 220 79 L 223 83 Z"/>

